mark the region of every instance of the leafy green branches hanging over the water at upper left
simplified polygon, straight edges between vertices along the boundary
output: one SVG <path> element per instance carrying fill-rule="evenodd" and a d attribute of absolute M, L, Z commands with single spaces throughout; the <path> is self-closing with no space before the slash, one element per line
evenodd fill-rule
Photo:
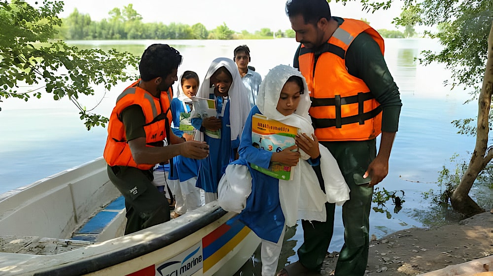
<path fill-rule="evenodd" d="M 62 8 L 61 1 L 45 1 L 38 9 L 19 0 L 0 2 L 0 101 L 11 97 L 28 101 L 49 93 L 55 101 L 75 104 L 87 129 L 105 126 L 107 118 L 91 113 L 77 99 L 94 95 L 93 85 L 109 90 L 134 77 L 127 68 L 136 68 L 138 59 L 126 52 L 80 50 L 53 40 L 54 27 L 62 24 L 57 16 Z M 23 91 L 19 83 L 38 87 Z"/>

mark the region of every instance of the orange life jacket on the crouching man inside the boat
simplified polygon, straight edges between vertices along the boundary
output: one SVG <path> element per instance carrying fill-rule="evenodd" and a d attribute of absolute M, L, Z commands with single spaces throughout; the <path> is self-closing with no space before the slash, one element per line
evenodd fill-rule
<path fill-rule="evenodd" d="M 155 164 L 137 164 L 132 157 L 130 146 L 125 137 L 125 127 L 120 120 L 121 112 L 128 106 L 138 104 L 142 108 L 145 117 L 145 142 L 146 146 L 155 142 L 161 142 L 169 136 L 171 103 L 168 93 L 161 93 L 161 99 L 157 99 L 149 92 L 138 87 L 139 81 L 127 87 L 116 100 L 116 106 L 111 112 L 108 123 L 108 138 L 106 139 L 105 152 L 103 154 L 109 166 L 128 166 L 141 170 L 149 170 Z M 170 88 L 171 89 L 171 88 Z M 165 113 L 165 114 L 163 114 Z M 169 141 L 168 141 L 169 142 Z"/>

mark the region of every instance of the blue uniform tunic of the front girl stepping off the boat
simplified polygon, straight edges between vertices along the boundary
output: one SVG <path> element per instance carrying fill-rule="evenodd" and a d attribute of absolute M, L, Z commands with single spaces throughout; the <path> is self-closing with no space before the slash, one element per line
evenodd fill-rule
<path fill-rule="evenodd" d="M 285 218 L 279 201 L 279 179 L 252 169 L 250 163 L 268 168 L 272 152 L 256 148 L 251 141 L 251 120 L 254 114 L 262 114 L 255 105 L 250 110 L 243 129 L 238 152 L 240 159 L 232 164 L 245 165 L 251 174 L 251 194 L 239 219 L 255 234 L 270 242 L 278 242 Z"/>

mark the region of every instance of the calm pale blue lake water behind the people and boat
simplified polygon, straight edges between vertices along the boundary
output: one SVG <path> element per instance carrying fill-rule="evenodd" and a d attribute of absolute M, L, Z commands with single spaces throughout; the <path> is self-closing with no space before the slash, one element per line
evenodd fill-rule
<path fill-rule="evenodd" d="M 194 70 L 202 79 L 209 64 L 216 57 L 233 57 L 236 46 L 247 44 L 251 51 L 250 65 L 264 76 L 279 64 L 292 64 L 298 46 L 294 39 L 274 40 L 132 40 L 132 41 L 70 41 L 80 47 L 116 48 L 141 55 L 153 43 L 168 43 L 183 55 L 178 75 L 184 70 Z M 463 104 L 468 99 L 462 88 L 451 91 L 443 81 L 450 76 L 442 65 L 422 66 L 415 57 L 422 50 L 437 50 L 439 45 L 428 39 L 386 39 L 386 61 L 397 83 L 403 108 L 399 132 L 390 156 L 387 178 L 377 187 L 388 191 L 405 192 L 402 210 L 385 214 L 371 213 L 370 235 L 377 237 L 410 228 L 425 226 L 418 220 L 428 209 L 421 193 L 435 183 L 438 171 L 449 165 L 449 158 L 457 153 L 468 160 L 475 139 L 457 134 L 450 123 L 460 118 L 477 116 L 477 102 Z M 82 97 L 81 103 L 96 113 L 109 117 L 116 97 L 128 85 L 121 84 L 111 91 L 97 88 L 94 97 Z M 467 90 L 466 90 L 467 91 Z M 44 95 L 40 100 L 25 103 L 7 99 L 0 103 L 0 193 L 28 185 L 45 176 L 80 165 L 102 156 L 106 130 L 98 127 L 87 131 L 78 119 L 77 109 L 68 99 L 55 102 Z M 400 196 L 399 194 L 396 194 Z M 336 209 L 334 237 L 329 250 L 339 251 L 343 244 L 341 208 Z M 422 219 L 421 219 L 422 220 Z M 295 261 L 294 252 L 301 245 L 301 227 L 292 229 L 287 237 L 283 261 Z"/>

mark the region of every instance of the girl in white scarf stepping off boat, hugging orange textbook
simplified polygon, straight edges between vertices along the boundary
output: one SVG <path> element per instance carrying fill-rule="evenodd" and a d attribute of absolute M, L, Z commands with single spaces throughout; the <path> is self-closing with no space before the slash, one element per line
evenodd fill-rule
<path fill-rule="evenodd" d="M 257 105 L 246 120 L 240 159 L 228 166 L 219 184 L 221 207 L 241 211 L 240 220 L 262 239 L 262 276 L 276 274 L 286 225 L 294 226 L 297 219 L 325 221 L 325 202 L 342 205 L 349 199 L 349 187 L 334 157 L 318 146 L 313 135 L 309 107 L 308 87 L 301 73 L 285 65 L 271 69 L 260 84 Z M 252 145 L 251 118 L 256 113 L 297 127 L 296 144 L 301 150 L 293 152 L 296 146 L 292 146 L 272 152 Z M 292 179 L 279 180 L 249 165 L 268 168 L 270 162 L 291 166 Z M 311 166 L 321 167 L 326 195 Z M 239 190 L 244 194 L 235 195 Z"/>

